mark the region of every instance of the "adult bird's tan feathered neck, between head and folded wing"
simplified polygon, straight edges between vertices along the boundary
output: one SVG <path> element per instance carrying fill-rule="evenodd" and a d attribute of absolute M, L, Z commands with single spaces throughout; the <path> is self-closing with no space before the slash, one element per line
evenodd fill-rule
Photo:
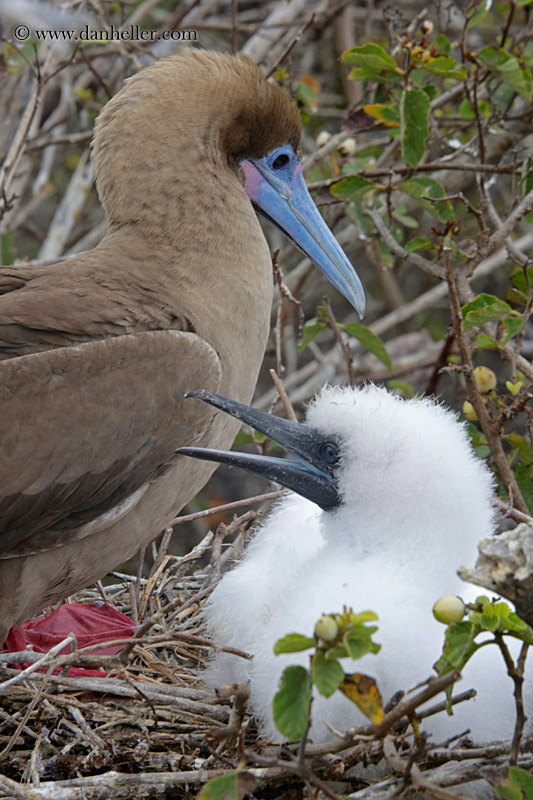
<path fill-rule="evenodd" d="M 228 379 L 242 376 L 262 360 L 272 301 L 270 251 L 256 214 L 229 169 L 199 161 L 188 175 L 159 177 L 144 184 L 139 215 L 111 225 L 101 260 L 119 256 L 123 280 L 147 310 L 185 319 L 223 367 L 231 365 Z"/>

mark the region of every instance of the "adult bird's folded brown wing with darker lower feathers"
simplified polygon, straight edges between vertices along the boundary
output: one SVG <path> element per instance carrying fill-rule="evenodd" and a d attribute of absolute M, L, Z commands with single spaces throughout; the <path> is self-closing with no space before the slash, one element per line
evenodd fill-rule
<path fill-rule="evenodd" d="M 208 429 L 216 412 L 183 396 L 220 378 L 215 350 L 179 331 L 1 362 L 0 558 L 100 531 Z"/>

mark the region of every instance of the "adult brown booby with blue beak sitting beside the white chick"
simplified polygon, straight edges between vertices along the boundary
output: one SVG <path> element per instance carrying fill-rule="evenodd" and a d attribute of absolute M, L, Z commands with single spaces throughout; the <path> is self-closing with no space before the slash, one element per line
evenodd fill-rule
<path fill-rule="evenodd" d="M 126 81 L 93 159 L 107 233 L 49 266 L 0 268 L 0 642 L 132 556 L 239 423 L 186 391 L 248 403 L 272 269 L 255 211 L 352 302 L 357 275 L 312 202 L 300 120 L 242 57 L 187 50 Z"/>

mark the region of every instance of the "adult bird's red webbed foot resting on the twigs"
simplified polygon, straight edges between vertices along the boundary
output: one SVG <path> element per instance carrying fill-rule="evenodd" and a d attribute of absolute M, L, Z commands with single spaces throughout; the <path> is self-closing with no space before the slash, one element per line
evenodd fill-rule
<path fill-rule="evenodd" d="M 69 633 L 73 633 L 78 648 L 90 645 L 105 645 L 115 639 L 129 639 L 135 632 L 135 625 L 129 617 L 112 606 L 97 603 L 64 603 L 55 611 L 42 617 L 25 622 L 22 628 L 13 626 L 7 635 L 0 651 L 18 653 L 31 644 L 36 653 L 47 653 L 54 645 L 59 644 Z M 91 655 L 114 655 L 122 645 L 101 647 L 91 651 Z M 69 653 L 65 647 L 61 653 Z M 24 669 L 27 664 L 10 665 L 15 669 Z M 46 672 L 47 667 L 39 671 Z M 57 671 L 60 671 L 58 667 Z M 105 677 L 106 672 L 85 667 L 70 667 L 69 677 Z"/>

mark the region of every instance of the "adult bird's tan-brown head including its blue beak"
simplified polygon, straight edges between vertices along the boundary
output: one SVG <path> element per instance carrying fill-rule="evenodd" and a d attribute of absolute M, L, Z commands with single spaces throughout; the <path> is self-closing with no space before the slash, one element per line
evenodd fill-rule
<path fill-rule="evenodd" d="M 173 209 L 185 215 L 194 206 L 197 221 L 183 226 L 187 235 L 209 235 L 223 249 L 217 217 L 231 216 L 232 194 L 244 187 L 255 210 L 362 316 L 361 282 L 305 186 L 300 138 L 296 106 L 248 59 L 188 49 L 158 61 L 129 78 L 98 118 L 94 164 L 109 229 L 144 223 L 143 231 L 164 233 L 166 224 L 171 232 Z M 210 192 L 198 196 L 207 185 Z M 196 187 L 194 204 L 187 186 Z M 243 250 L 247 245 L 242 241 Z"/>

